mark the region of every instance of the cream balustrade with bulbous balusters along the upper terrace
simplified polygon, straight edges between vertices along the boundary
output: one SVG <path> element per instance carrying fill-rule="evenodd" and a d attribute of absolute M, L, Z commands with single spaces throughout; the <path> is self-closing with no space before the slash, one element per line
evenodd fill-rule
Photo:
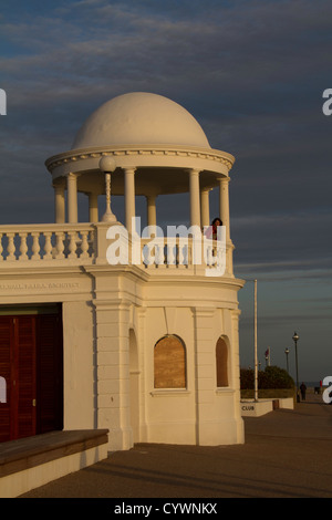
<path fill-rule="evenodd" d="M 108 228 L 110 225 L 104 222 L 0 226 L 0 269 L 9 264 L 110 264 L 107 248 L 116 238 L 107 238 Z M 167 238 L 166 242 L 139 238 L 133 247 L 125 228 L 122 229 L 124 235 L 118 243 L 128 248 L 128 254 L 124 257 L 127 261 L 116 262 L 115 259 L 114 264 L 136 264 L 155 274 L 165 269 L 173 272 L 187 270 L 193 274 L 210 270 L 211 275 L 225 264 L 231 267 L 231 243 L 225 250 L 225 245 L 222 248 L 216 241 L 197 242 L 191 237 Z M 224 272 L 225 269 L 219 275 Z"/>

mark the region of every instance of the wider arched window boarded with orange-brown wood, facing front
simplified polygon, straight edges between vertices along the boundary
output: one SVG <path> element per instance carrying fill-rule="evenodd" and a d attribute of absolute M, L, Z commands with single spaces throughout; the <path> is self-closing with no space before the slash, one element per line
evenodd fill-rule
<path fill-rule="evenodd" d="M 154 349 L 155 388 L 186 388 L 186 347 L 175 335 L 162 337 Z"/>

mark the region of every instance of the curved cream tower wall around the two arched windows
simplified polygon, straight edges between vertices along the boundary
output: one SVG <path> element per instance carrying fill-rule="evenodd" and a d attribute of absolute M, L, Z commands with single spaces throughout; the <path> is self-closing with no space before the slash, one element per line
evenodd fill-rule
<path fill-rule="evenodd" d="M 172 289 L 176 290 L 168 287 Z M 146 438 L 142 440 L 205 445 L 243 441 L 234 311 L 203 309 L 197 331 L 194 306 L 197 302 L 199 292 L 193 306 L 188 302 L 187 306 L 153 306 L 145 312 Z M 165 334 L 176 334 L 185 342 L 186 389 L 154 389 L 153 350 Z M 220 335 L 229 345 L 229 386 L 226 388 L 216 386 L 216 343 Z"/>

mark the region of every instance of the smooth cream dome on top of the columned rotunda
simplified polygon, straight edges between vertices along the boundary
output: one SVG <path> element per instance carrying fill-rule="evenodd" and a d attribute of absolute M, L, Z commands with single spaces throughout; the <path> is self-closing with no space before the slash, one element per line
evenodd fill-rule
<path fill-rule="evenodd" d="M 195 117 L 167 97 L 146 92 L 120 95 L 87 117 L 72 149 L 121 145 L 210 148 Z"/>

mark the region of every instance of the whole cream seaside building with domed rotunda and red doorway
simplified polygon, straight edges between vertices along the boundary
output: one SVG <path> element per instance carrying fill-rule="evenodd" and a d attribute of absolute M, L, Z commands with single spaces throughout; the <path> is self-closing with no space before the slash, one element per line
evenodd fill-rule
<path fill-rule="evenodd" d="M 237 299 L 243 281 L 232 271 L 232 164 L 231 155 L 209 146 L 185 108 L 147 93 L 102 105 L 73 147 L 46 160 L 55 223 L 0 226 L 0 377 L 7 393 L 0 441 L 106 428 L 110 450 L 142 441 L 243 443 Z M 208 277 L 205 262 L 195 264 L 193 239 L 186 247 L 177 238 L 163 263 L 157 246 L 153 263 L 142 254 L 136 262 L 108 263 L 110 228 L 125 226 L 132 245 L 135 195 L 146 197 L 148 223 L 156 225 L 159 195 L 172 200 L 189 193 L 190 223 L 201 228 L 209 225 L 211 189 L 219 190 L 226 226 L 222 275 Z M 89 222 L 77 221 L 79 191 L 89 197 Z M 98 216 L 97 197 L 105 193 Z M 123 223 L 112 214 L 118 195 Z"/>

